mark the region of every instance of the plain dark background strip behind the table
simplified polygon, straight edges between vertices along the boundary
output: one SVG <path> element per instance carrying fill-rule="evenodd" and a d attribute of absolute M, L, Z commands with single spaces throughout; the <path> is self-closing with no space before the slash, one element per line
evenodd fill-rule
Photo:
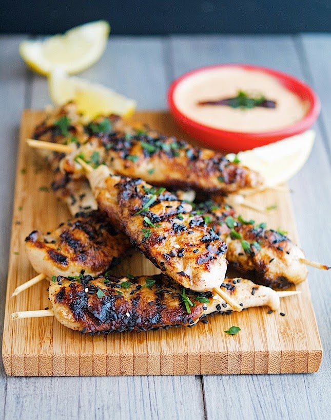
<path fill-rule="evenodd" d="M 331 0 L 0 0 L 0 32 L 57 33 L 98 19 L 114 34 L 331 31 Z"/>

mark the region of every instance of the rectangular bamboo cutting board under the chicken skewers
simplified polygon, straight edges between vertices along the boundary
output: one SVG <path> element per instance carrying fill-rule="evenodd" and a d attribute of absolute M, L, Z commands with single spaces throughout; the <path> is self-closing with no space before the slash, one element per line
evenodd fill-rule
<path fill-rule="evenodd" d="M 53 230 L 69 215 L 45 188 L 52 180 L 51 171 L 25 144 L 43 117 L 43 112 L 25 111 L 22 118 L 3 338 L 8 375 L 307 373 L 319 369 L 322 347 L 308 282 L 297 286 L 300 295 L 282 299 L 285 317 L 267 314 L 266 307 L 250 308 L 240 314 L 209 317 L 208 324 L 198 323 L 193 328 L 93 337 L 69 330 L 53 317 L 12 320 L 12 312 L 49 306 L 46 280 L 11 298 L 15 287 L 35 276 L 25 254 L 25 237 L 35 229 Z M 189 140 L 167 113 L 139 112 L 134 120 Z M 298 239 L 289 193 L 268 191 L 249 199 L 263 207 L 276 203 L 278 207 L 261 215 L 238 206 L 239 214 L 267 222 L 269 227 L 281 227 L 290 238 Z M 115 274 L 127 272 L 152 275 L 159 270 L 136 253 L 114 270 Z M 241 332 L 225 334 L 231 325 L 240 326 Z"/>

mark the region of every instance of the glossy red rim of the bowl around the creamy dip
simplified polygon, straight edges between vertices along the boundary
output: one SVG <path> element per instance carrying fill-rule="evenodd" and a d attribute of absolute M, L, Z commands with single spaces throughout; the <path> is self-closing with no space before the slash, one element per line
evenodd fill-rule
<path fill-rule="evenodd" d="M 305 99 L 309 101 L 309 108 L 306 115 L 299 121 L 295 122 L 292 125 L 284 127 L 283 129 L 279 130 L 272 130 L 272 131 L 263 131 L 263 132 L 240 132 L 240 131 L 228 131 L 228 130 L 221 130 L 215 127 L 211 127 L 210 125 L 202 124 L 200 122 L 194 121 L 191 118 L 187 117 L 183 114 L 173 99 L 174 91 L 177 86 L 187 78 L 203 71 L 215 69 L 215 68 L 225 68 L 225 67 L 237 67 L 243 68 L 247 70 L 258 70 L 262 71 L 268 75 L 274 76 L 281 84 L 285 85 L 285 87 L 290 90 L 291 92 L 295 93 L 296 95 L 300 96 L 295 89 L 291 89 L 290 86 L 297 86 L 301 92 L 305 93 Z M 286 82 L 286 83 L 284 83 Z M 302 96 L 301 96 L 302 98 Z M 226 136 L 229 140 L 231 139 L 238 139 L 239 137 L 244 139 L 261 139 L 261 138 L 286 138 L 290 136 L 294 136 L 296 134 L 302 133 L 307 130 L 314 122 L 317 120 L 321 104 L 320 100 L 313 90 L 308 84 L 299 80 L 298 78 L 287 74 L 286 72 L 275 70 L 269 67 L 254 65 L 254 64 L 245 64 L 245 63 L 224 63 L 224 64 L 212 64 L 208 66 L 202 66 L 195 68 L 193 70 L 187 71 L 183 75 L 179 76 L 175 80 L 172 81 L 170 87 L 168 89 L 167 94 L 168 105 L 172 114 L 174 114 L 175 118 L 181 120 L 182 123 L 190 125 L 192 128 L 197 130 L 203 130 L 208 134 L 212 135 L 219 135 L 219 136 Z M 271 140 L 272 141 L 272 140 Z M 270 142 L 271 142 L 270 141 Z M 274 140 L 275 141 L 275 140 Z"/>

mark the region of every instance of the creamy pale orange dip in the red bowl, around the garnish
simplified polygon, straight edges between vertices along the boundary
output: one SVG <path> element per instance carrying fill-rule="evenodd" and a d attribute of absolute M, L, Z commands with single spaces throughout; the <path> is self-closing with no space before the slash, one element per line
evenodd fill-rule
<path fill-rule="evenodd" d="M 263 96 L 273 101 L 274 107 L 199 104 L 236 98 L 239 92 L 252 98 Z M 245 133 L 293 125 L 305 116 L 309 105 L 271 75 L 238 67 L 213 68 L 187 77 L 174 90 L 173 100 L 179 111 L 191 120 L 220 130 Z"/>

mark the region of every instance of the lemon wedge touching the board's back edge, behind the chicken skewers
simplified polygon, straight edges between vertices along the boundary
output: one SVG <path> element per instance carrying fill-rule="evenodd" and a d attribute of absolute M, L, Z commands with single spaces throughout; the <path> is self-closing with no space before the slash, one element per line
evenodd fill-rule
<path fill-rule="evenodd" d="M 128 117 L 134 113 L 137 105 L 133 99 L 128 99 L 99 83 L 68 76 L 62 68 L 56 68 L 50 73 L 48 88 L 55 105 L 61 106 L 74 101 L 78 111 L 90 118 L 101 114 Z"/>

